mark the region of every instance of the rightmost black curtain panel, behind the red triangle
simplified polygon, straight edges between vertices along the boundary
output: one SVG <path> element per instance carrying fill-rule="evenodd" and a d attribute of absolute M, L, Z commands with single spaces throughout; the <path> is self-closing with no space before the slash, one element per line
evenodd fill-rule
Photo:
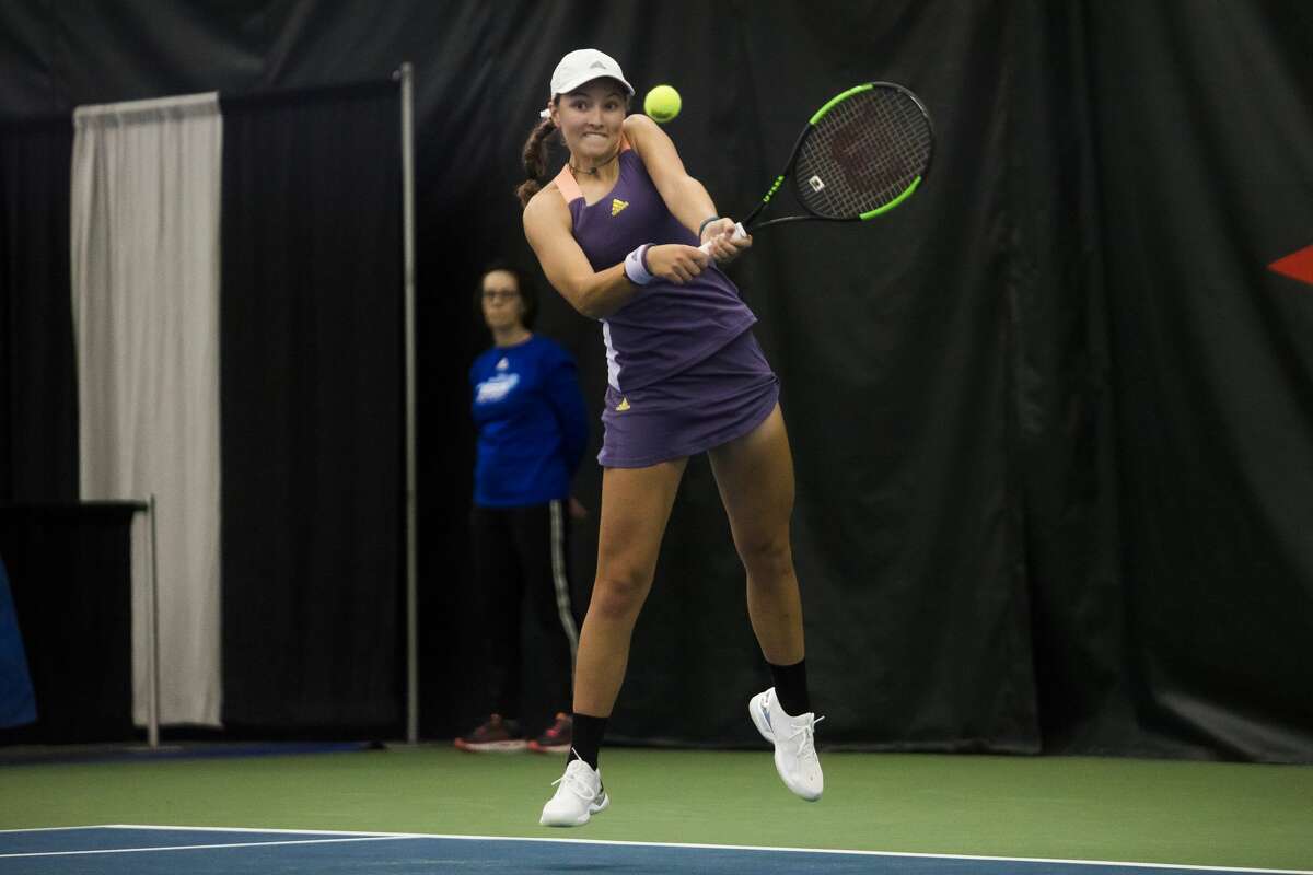
<path fill-rule="evenodd" d="M 1087 16 L 1140 724 L 1313 760 L 1313 8 Z"/>

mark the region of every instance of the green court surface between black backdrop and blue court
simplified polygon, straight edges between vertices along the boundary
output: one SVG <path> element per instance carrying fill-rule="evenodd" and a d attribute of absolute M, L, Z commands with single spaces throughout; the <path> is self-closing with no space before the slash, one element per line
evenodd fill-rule
<path fill-rule="evenodd" d="M 1313 868 L 1313 766 L 825 753 L 825 798 L 768 752 L 609 749 L 612 807 L 537 825 L 562 758 L 446 746 L 0 766 L 0 829 L 334 829 Z"/>

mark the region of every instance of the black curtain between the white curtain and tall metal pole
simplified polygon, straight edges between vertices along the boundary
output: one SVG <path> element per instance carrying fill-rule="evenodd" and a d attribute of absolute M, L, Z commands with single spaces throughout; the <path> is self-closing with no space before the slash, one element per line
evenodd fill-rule
<path fill-rule="evenodd" d="M 221 105 L 223 720 L 395 733 L 399 85 Z"/>

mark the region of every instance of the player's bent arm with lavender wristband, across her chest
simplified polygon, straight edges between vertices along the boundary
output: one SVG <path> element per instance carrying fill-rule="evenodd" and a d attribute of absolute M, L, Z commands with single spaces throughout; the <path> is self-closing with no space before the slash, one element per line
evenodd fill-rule
<path fill-rule="evenodd" d="M 570 209 L 554 186 L 538 192 L 524 209 L 524 235 L 548 281 L 580 314 L 604 319 L 641 294 L 642 286 L 630 282 L 624 262 L 593 272 L 570 228 Z M 651 247 L 646 253 L 646 269 L 674 283 L 696 277 L 706 262 L 706 254 L 678 244 Z"/>

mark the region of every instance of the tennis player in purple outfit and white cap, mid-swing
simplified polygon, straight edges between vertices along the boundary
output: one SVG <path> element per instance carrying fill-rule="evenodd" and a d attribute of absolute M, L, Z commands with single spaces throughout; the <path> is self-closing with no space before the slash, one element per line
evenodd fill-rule
<path fill-rule="evenodd" d="M 605 809 L 599 748 L 624 681 L 634 623 L 651 588 L 688 457 L 708 453 L 747 571 L 747 609 L 775 685 L 748 714 L 775 744 L 798 796 L 821 796 L 817 718 L 807 695 L 802 605 L 789 544 L 793 459 L 779 380 L 752 336 L 756 316 L 721 273 L 751 247 L 733 240 L 674 143 L 596 49 L 551 75 L 542 121 L 524 147 L 524 230 L 551 285 L 601 321 L 608 383 L 597 576 L 579 636 L 574 749 L 540 823 L 576 826 Z M 548 138 L 570 160 L 546 176 Z M 709 244 L 704 253 L 697 247 Z"/>

